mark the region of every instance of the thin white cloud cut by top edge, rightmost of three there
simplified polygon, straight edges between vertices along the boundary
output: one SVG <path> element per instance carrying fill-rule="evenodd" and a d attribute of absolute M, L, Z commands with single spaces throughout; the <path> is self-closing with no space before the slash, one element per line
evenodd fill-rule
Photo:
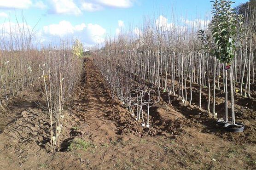
<path fill-rule="evenodd" d="M 128 8 L 133 6 L 132 0 L 97 0 L 100 4 L 104 6 L 118 7 L 118 8 Z"/>

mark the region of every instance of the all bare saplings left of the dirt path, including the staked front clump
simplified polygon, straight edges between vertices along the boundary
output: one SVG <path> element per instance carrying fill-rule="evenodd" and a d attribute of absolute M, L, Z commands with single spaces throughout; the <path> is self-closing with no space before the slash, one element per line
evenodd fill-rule
<path fill-rule="evenodd" d="M 79 82 L 82 61 L 74 57 L 64 42 L 59 48 L 41 50 L 5 47 L 0 51 L 0 101 L 5 101 L 8 108 L 8 100 L 22 91 L 29 91 L 29 97 L 49 114 L 49 141 L 53 152 L 60 148 L 64 106 Z M 1 103 L 0 107 L 4 108 Z"/>

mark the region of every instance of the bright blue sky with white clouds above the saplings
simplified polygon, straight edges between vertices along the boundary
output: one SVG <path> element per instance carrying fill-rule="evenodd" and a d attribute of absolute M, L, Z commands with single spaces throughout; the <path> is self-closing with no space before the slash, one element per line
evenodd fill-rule
<path fill-rule="evenodd" d="M 234 1 L 236 6 L 247 0 Z M 23 13 L 27 27 L 35 26 L 42 43 L 79 38 L 84 45 L 95 45 L 106 34 L 135 31 L 145 17 L 170 24 L 172 16 L 177 20 L 204 20 L 210 11 L 210 0 L 0 0 L 0 29 L 7 31 L 9 23 L 17 29 L 15 15 L 22 23 Z"/>

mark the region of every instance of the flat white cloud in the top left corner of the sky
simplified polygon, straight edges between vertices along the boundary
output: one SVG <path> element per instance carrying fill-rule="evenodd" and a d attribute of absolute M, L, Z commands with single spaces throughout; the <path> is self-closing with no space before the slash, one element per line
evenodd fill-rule
<path fill-rule="evenodd" d="M 0 0 L 0 8 L 28 9 L 31 5 L 31 0 Z"/>

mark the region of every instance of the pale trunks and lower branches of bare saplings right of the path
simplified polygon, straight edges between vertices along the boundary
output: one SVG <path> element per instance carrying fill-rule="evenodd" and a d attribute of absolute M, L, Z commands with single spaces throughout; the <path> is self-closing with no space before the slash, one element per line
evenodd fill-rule
<path fill-rule="evenodd" d="M 252 50 L 252 45 L 250 50 L 247 45 L 239 48 L 230 74 L 225 74 L 225 66 L 202 50 L 123 50 L 110 45 L 101 52 L 95 60 L 110 84 L 112 96 L 118 96 L 132 115 L 136 114 L 137 121 L 142 119 L 142 126 L 145 126 L 145 110 L 147 127 L 150 107 L 159 102 L 160 92 L 168 93 L 169 101 L 166 102 L 170 102 L 170 95 L 178 95 L 185 105 L 192 104 L 196 97 L 201 109 L 202 91 L 205 91 L 208 112 L 216 118 L 215 89 L 226 90 L 225 75 L 228 78 L 233 75 L 233 91 L 243 96 L 250 97 L 250 85 L 255 81 L 256 50 Z M 192 95 L 193 90 L 198 91 L 196 96 Z"/>

